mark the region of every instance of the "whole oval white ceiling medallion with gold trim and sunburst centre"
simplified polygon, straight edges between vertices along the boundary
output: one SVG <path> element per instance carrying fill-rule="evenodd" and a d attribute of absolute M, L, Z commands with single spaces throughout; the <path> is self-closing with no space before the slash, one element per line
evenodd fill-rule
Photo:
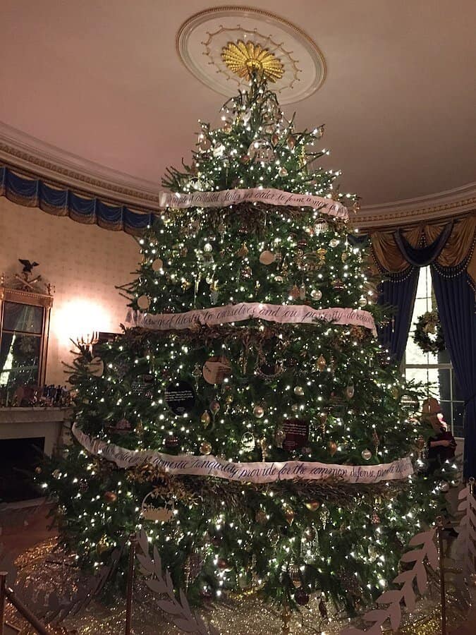
<path fill-rule="evenodd" d="M 326 76 L 324 56 L 303 30 L 250 7 L 195 13 L 178 30 L 176 47 L 188 70 L 226 97 L 245 88 L 253 70 L 273 83 L 281 104 L 309 97 Z"/>

